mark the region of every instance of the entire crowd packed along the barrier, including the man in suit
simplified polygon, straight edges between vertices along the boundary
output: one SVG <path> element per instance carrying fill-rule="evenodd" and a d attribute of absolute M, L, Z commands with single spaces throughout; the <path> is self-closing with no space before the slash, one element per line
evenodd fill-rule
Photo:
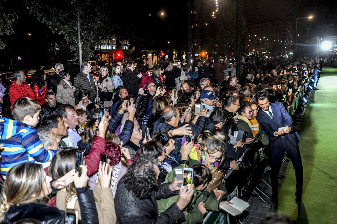
<path fill-rule="evenodd" d="M 12 117 L 0 118 L 0 221 L 64 223 L 73 209 L 89 224 L 200 223 L 207 211 L 231 204 L 223 176 L 239 170 L 246 149 L 264 135 L 278 149 L 272 199 L 284 144 L 291 144 L 301 203 L 300 137 L 286 109 L 319 73 L 315 65 L 246 58 L 236 77 L 236 62 L 219 57 L 168 62 L 152 74 L 146 65 L 118 62 L 95 78 L 84 62 L 72 85 L 57 63 L 47 80 L 37 71 L 32 88 L 16 71 Z M 191 187 L 177 179 L 177 168 L 192 168 Z"/>

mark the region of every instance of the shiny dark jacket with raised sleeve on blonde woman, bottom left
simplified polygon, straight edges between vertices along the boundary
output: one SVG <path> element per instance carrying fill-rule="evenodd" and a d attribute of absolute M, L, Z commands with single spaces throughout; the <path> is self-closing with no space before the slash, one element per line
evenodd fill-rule
<path fill-rule="evenodd" d="M 82 221 L 79 223 L 97 224 L 98 214 L 92 191 L 82 192 L 81 188 L 76 188 L 77 197 L 81 208 Z M 82 192 L 82 193 L 81 193 Z M 4 220 L 10 223 L 21 219 L 36 219 L 43 224 L 64 224 L 65 212 L 56 207 L 40 203 L 27 203 L 12 205 L 7 211 Z"/>

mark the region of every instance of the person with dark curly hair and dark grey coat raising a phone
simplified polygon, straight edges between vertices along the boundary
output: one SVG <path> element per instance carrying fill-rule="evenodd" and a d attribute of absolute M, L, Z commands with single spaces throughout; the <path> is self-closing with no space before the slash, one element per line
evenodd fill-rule
<path fill-rule="evenodd" d="M 179 188 L 182 180 L 175 178 L 171 183 L 159 184 L 158 159 L 137 158 L 127 169 L 117 186 L 115 210 L 117 223 L 123 224 L 173 224 L 185 219 L 182 212 L 190 203 L 194 188 Z M 180 191 L 178 191 L 180 190 Z M 167 198 L 179 193 L 177 202 L 158 217 L 156 199 Z"/>

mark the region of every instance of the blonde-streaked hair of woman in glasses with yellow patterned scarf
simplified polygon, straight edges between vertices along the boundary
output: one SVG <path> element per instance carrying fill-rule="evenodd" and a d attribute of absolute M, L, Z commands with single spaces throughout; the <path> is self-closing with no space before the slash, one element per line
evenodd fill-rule
<path fill-rule="evenodd" d="M 209 137 L 205 140 L 204 146 L 207 148 L 207 152 L 210 154 L 221 152 L 221 161 L 219 164 L 221 164 L 226 155 L 226 143 L 224 142 L 226 137 L 221 134 L 220 132 L 217 132 L 215 135 Z"/>

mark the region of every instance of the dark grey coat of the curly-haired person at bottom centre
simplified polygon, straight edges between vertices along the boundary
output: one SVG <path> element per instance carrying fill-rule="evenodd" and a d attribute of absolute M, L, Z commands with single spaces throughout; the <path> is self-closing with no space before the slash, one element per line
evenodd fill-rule
<path fill-rule="evenodd" d="M 115 210 L 117 223 L 119 224 L 170 224 L 178 223 L 185 219 L 184 214 L 174 203 L 158 217 L 158 205 L 156 199 L 167 198 L 178 194 L 169 188 L 170 183 L 160 184 L 157 191 L 152 191 L 151 195 L 145 199 L 137 198 L 128 191 L 124 184 L 124 178 L 118 182 L 115 196 Z"/>

